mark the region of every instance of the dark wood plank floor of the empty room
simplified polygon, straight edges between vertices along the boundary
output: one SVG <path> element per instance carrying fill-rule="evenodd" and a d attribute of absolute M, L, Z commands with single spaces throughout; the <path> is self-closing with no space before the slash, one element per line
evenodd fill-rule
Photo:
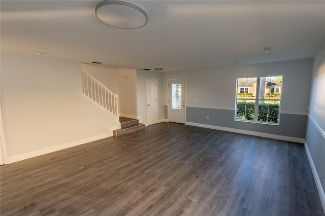
<path fill-rule="evenodd" d="M 1 166 L 1 215 L 324 215 L 303 145 L 160 123 Z"/>

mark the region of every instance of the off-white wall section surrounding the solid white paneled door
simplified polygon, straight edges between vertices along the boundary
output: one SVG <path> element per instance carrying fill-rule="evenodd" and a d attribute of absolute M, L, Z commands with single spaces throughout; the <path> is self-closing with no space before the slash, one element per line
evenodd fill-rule
<path fill-rule="evenodd" d="M 138 116 L 147 123 L 146 79 L 158 79 L 158 121 L 164 121 L 164 74 L 153 71 L 137 70 Z"/>

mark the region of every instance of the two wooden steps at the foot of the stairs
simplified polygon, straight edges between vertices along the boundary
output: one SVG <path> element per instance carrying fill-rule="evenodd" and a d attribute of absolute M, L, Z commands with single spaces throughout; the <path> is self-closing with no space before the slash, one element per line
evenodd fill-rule
<path fill-rule="evenodd" d="M 113 130 L 113 135 L 116 137 L 146 129 L 146 125 L 142 123 L 139 124 L 138 119 L 129 119 L 124 117 L 119 117 L 119 119 L 121 129 Z"/>

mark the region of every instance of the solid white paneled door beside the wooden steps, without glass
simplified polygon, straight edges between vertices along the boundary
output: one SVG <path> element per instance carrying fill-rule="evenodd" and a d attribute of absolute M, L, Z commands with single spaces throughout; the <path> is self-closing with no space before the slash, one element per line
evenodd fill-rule
<path fill-rule="evenodd" d="M 158 80 L 157 79 L 147 79 L 147 125 L 152 125 L 157 123 L 158 119 Z"/>

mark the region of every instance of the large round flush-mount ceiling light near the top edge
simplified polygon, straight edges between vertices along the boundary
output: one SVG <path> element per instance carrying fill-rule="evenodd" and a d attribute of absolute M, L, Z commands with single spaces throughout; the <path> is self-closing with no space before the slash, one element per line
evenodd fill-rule
<path fill-rule="evenodd" d="M 146 12 L 128 1 L 101 2 L 96 6 L 95 13 L 102 22 L 117 28 L 140 28 L 148 21 Z"/>

